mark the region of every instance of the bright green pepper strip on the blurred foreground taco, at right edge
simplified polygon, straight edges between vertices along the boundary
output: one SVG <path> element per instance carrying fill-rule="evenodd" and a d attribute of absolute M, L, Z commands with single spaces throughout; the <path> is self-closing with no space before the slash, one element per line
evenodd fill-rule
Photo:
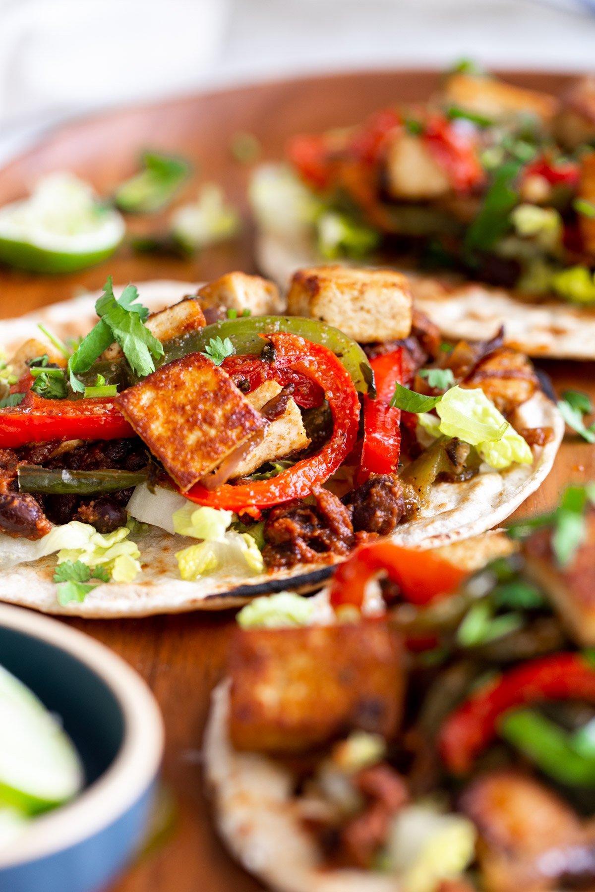
<path fill-rule="evenodd" d="M 498 731 L 554 780 L 569 787 L 595 788 L 595 758 L 582 756 L 573 746 L 573 735 L 544 715 L 531 709 L 508 714 Z"/>

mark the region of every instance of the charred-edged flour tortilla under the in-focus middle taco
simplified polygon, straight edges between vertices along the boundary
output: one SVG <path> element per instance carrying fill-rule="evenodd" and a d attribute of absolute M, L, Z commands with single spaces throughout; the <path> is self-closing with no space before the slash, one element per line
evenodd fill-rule
<path fill-rule="evenodd" d="M 140 283 L 138 287 L 142 301 L 154 311 L 180 300 L 185 294 L 194 293 L 197 285 L 161 281 Z M 96 297 L 97 294 L 89 294 L 51 304 L 35 314 L 3 320 L 0 323 L 0 346 L 10 354 L 28 337 L 40 335 L 39 321 L 62 338 L 86 334 L 95 323 Z M 401 524 L 393 541 L 434 548 L 483 533 L 512 514 L 550 473 L 564 434 L 564 422 L 558 409 L 541 392 L 520 407 L 517 420 L 519 426 L 552 427 L 554 430 L 552 442 L 533 447 L 533 465 L 514 465 L 502 472 L 476 475 L 463 483 L 438 483 L 432 488 L 427 508 L 415 520 Z M 157 527 L 151 527 L 135 538 L 143 566 L 136 582 L 99 585 L 83 602 L 62 607 L 55 599 L 52 581 L 54 555 L 4 570 L 0 563 L 0 600 L 53 614 L 146 616 L 237 607 L 256 595 L 283 589 L 312 591 L 332 573 L 332 564 L 321 562 L 274 574 L 238 576 L 219 573 L 203 577 L 198 582 L 184 582 L 179 578 L 175 553 L 194 540 L 171 535 Z M 338 563 L 341 558 L 333 560 Z"/>

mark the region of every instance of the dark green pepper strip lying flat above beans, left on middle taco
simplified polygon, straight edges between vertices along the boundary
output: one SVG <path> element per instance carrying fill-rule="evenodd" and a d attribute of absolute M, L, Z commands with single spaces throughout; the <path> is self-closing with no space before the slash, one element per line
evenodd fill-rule
<path fill-rule="evenodd" d="M 144 483 L 146 471 L 125 471 L 102 468 L 96 471 L 69 471 L 66 468 L 47 468 L 21 465 L 17 471 L 19 491 L 46 495 L 98 495 L 102 492 L 128 490 Z"/>

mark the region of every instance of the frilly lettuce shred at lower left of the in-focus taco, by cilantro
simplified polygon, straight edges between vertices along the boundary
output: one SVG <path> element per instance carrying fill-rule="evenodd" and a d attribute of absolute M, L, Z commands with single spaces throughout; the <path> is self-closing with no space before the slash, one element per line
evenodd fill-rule
<path fill-rule="evenodd" d="M 71 521 L 75 524 L 77 521 Z M 140 550 L 136 542 L 128 539 L 130 531 L 127 526 L 120 526 L 113 533 L 97 533 L 90 524 L 78 524 L 80 538 L 76 545 L 69 541 L 58 552 L 58 564 L 63 561 L 76 563 L 81 561 L 90 567 L 103 566 L 112 577 L 113 582 L 132 582 L 140 573 Z M 54 531 L 52 531 L 54 532 Z M 51 535 L 52 533 L 49 533 Z M 85 539 L 85 541 L 82 541 Z"/>

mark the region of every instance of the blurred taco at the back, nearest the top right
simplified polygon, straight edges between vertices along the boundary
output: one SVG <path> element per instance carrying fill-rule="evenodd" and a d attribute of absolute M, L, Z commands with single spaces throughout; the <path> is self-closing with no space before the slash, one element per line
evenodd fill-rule
<path fill-rule="evenodd" d="M 256 253 L 405 269 L 442 335 L 595 358 L 595 80 L 566 95 L 450 72 L 426 103 L 295 136 L 252 178 Z"/>

